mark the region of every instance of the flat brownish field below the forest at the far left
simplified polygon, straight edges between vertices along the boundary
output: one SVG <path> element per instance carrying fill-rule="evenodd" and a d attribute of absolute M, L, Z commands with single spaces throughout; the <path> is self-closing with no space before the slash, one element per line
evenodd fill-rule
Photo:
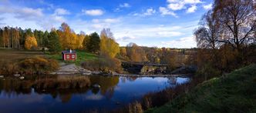
<path fill-rule="evenodd" d="M 35 56 L 44 57 L 45 55 L 41 51 L 26 51 L 10 48 L 0 48 L 0 60 L 19 61 L 24 58 L 32 58 Z"/>

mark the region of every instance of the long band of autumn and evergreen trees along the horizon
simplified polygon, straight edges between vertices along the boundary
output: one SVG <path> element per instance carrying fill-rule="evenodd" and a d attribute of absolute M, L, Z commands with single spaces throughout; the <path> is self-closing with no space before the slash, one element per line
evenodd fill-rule
<path fill-rule="evenodd" d="M 126 61 L 143 61 L 150 63 L 181 65 L 196 49 L 150 48 L 130 43 L 120 47 L 114 40 L 109 28 L 103 28 L 100 35 L 96 32 L 86 35 L 85 32 L 76 34 L 66 23 L 59 29 L 52 28 L 51 32 L 34 30 L 31 28 L 0 28 L 0 47 L 42 49 L 49 48 L 49 52 L 59 53 L 64 49 L 81 49 L 109 58 L 120 58 Z M 186 51 L 185 51 L 186 50 Z"/>

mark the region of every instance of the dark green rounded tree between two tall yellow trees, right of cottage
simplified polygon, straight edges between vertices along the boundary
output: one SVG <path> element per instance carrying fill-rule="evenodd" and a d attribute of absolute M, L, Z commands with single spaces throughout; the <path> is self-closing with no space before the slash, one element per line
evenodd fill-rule
<path fill-rule="evenodd" d="M 86 48 L 89 52 L 97 53 L 99 52 L 99 43 L 100 38 L 98 33 L 93 32 L 91 35 L 89 35 L 89 42 L 86 45 Z"/>

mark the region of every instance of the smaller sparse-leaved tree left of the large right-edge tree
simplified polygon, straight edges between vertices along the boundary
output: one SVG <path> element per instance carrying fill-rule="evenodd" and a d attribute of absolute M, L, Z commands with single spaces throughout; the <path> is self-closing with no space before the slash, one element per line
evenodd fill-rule
<path fill-rule="evenodd" d="M 221 45 L 219 42 L 219 38 L 221 37 L 221 23 L 218 21 L 214 12 L 209 11 L 203 16 L 200 20 L 200 27 L 194 32 L 194 36 L 198 48 L 207 48 L 200 50 L 205 50 L 204 54 L 209 55 L 209 61 L 207 63 L 211 63 L 216 67 L 218 65 L 217 61 L 219 61 L 217 48 Z"/>

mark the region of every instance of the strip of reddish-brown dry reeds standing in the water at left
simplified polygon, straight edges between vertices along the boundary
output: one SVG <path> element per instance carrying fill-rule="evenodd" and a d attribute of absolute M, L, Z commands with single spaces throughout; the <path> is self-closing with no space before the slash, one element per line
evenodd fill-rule
<path fill-rule="evenodd" d="M 12 92 L 12 91 L 26 91 L 31 88 L 35 88 L 37 91 L 44 89 L 82 89 L 89 88 L 90 81 L 86 76 L 56 76 L 56 75 L 42 75 L 42 76 L 30 76 L 25 77 L 24 80 L 19 78 L 6 77 L 5 80 L 0 79 L 0 89 Z"/>

